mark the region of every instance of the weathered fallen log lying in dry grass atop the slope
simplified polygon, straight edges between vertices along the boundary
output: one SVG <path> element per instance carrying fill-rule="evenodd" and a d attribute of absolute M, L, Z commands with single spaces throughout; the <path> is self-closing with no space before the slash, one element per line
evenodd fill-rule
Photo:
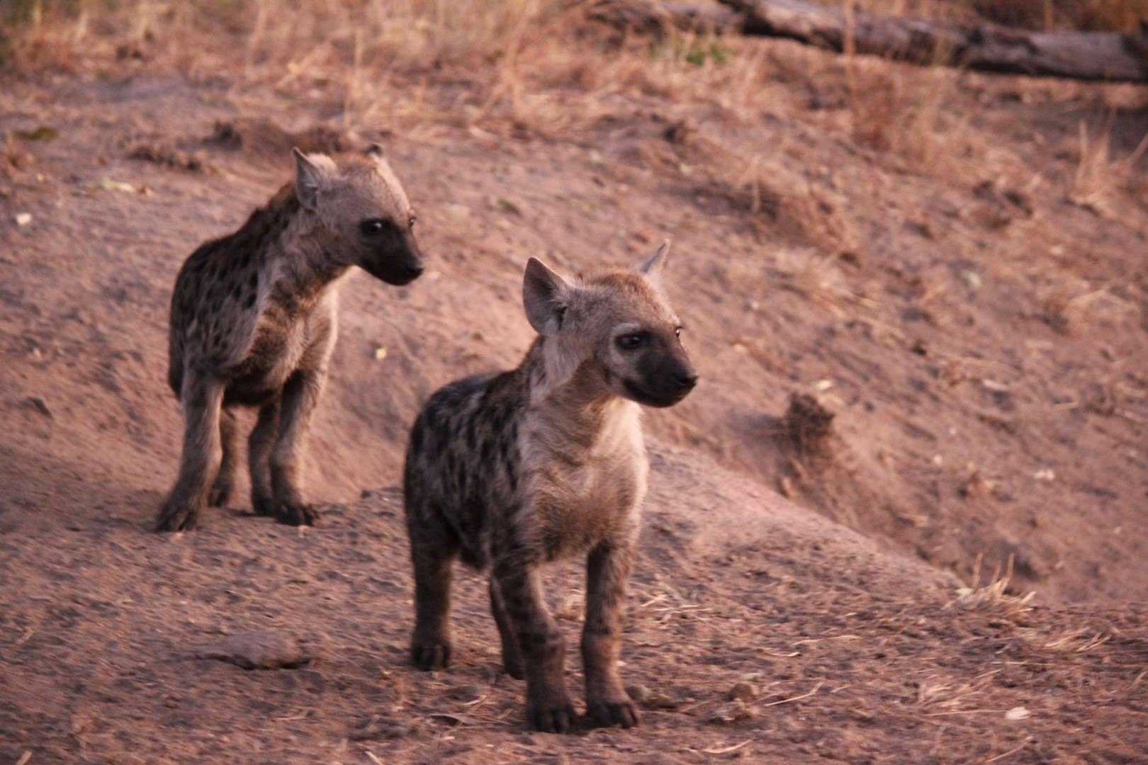
<path fill-rule="evenodd" d="M 650 0 L 599 5 L 595 16 L 633 28 L 673 25 L 789 38 L 837 53 L 853 52 L 924 65 L 1148 83 L 1148 24 L 1120 32 L 1031 32 L 995 24 L 964 26 L 897 18 L 807 0 L 720 0 L 718 6 Z"/>

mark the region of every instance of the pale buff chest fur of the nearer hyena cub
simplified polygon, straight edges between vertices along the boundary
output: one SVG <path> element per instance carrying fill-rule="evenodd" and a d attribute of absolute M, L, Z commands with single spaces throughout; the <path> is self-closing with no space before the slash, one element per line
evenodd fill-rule
<path fill-rule="evenodd" d="M 522 455 L 534 532 L 548 559 L 637 531 L 649 462 L 637 405 L 615 400 L 596 428 L 527 414 Z"/>

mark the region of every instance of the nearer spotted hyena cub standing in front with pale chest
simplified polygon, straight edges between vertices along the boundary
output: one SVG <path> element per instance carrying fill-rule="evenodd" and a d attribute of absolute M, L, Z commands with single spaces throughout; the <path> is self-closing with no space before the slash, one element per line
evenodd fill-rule
<path fill-rule="evenodd" d="M 582 658 L 587 712 L 630 727 L 638 711 L 618 674 L 620 620 L 645 494 L 637 404 L 672 406 L 697 383 L 659 286 L 668 242 L 637 270 L 566 281 L 526 266 L 522 298 L 538 331 L 517 369 L 451 383 L 427 401 L 406 452 L 414 564 L 411 659 L 450 662 L 456 557 L 490 571 L 503 665 L 526 679 L 527 719 L 565 732 L 574 708 L 565 646 L 538 567 L 588 553 Z"/>

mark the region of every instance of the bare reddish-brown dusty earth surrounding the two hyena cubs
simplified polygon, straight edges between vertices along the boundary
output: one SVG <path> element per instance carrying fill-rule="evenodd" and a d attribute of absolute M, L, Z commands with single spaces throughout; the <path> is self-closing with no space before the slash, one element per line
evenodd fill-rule
<path fill-rule="evenodd" d="M 971 136 L 952 151 L 1016 172 L 914 172 L 843 135 L 835 80 L 800 73 L 832 57 L 762 45 L 775 103 L 737 124 L 637 93 L 565 138 L 383 136 L 433 264 L 343 287 L 312 440 L 325 517 L 302 531 L 245 502 L 152 533 L 179 434 L 166 305 L 293 143 L 356 135 L 226 77 L 6 76 L 0 759 L 1142 762 L 1148 210 L 1080 188 L 1077 125 L 1104 92 L 948 75 Z M 1148 125 L 1131 101 L 1125 154 Z M 769 164 L 707 171 L 718 147 Z M 667 235 L 704 382 L 646 419 L 623 653 L 645 725 L 526 733 L 476 578 L 456 666 L 404 665 L 405 431 L 434 388 L 525 350 L 528 255 L 576 271 Z M 828 436 L 793 435 L 794 393 L 833 413 Z M 551 577 L 572 640 L 580 583 Z M 199 657 L 251 630 L 305 659 Z"/>

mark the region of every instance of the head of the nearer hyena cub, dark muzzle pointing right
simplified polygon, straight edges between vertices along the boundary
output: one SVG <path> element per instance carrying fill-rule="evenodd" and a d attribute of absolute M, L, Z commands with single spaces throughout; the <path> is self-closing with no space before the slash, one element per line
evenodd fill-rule
<path fill-rule="evenodd" d="M 673 406 L 685 398 L 698 373 L 682 348 L 681 321 L 661 290 L 668 252 L 666 242 L 635 271 L 579 281 L 530 258 L 522 298 L 530 326 L 549 341 L 548 375 L 568 380 L 582 369 L 591 384 L 646 406 Z"/>

